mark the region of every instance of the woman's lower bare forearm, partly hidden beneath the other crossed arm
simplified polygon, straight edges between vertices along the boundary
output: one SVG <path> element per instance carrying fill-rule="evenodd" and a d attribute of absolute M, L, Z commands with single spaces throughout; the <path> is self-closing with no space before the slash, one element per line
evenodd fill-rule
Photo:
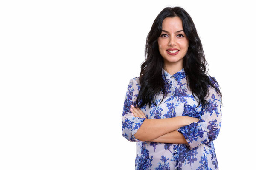
<path fill-rule="evenodd" d="M 179 133 L 177 130 L 166 133 L 156 139 L 151 140 L 152 142 L 161 142 L 161 143 L 174 143 L 174 144 L 187 144 L 183 134 Z"/>

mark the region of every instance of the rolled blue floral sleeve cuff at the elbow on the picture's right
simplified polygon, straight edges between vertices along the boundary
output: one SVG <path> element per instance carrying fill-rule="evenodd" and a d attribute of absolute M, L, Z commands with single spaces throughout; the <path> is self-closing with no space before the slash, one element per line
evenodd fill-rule
<path fill-rule="evenodd" d="M 183 134 L 188 144 L 186 144 L 189 149 L 194 149 L 200 144 L 205 144 L 209 142 L 207 136 L 207 124 L 206 122 L 194 122 L 189 125 L 180 127 L 177 129 L 178 132 Z"/>

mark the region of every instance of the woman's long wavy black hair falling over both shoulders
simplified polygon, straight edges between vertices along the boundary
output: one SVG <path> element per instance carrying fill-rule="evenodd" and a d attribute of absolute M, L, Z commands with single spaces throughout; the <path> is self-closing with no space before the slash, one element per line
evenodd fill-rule
<path fill-rule="evenodd" d="M 149 107 L 151 107 L 152 104 L 157 105 L 154 97 L 160 91 L 163 92 L 163 98 L 166 96 L 165 82 L 162 78 L 164 62 L 163 57 L 160 55 L 157 42 L 157 39 L 160 37 L 162 32 L 163 20 L 166 17 L 179 17 L 182 20 L 184 33 L 189 39 L 188 51 L 183 58 L 183 68 L 193 96 L 198 96 L 198 106 L 201 103 L 204 107 L 208 103 L 204 99 L 208 92 L 208 85 L 215 88 L 222 100 L 220 89 L 214 85 L 218 85 L 218 83 L 215 79 L 207 75 L 207 62 L 204 57 L 201 40 L 197 34 L 192 18 L 183 8 L 166 7 L 154 20 L 151 30 L 147 36 L 145 45 L 145 61 L 142 63 L 140 70 L 139 79 L 141 88 L 137 96 L 137 106 L 141 108 L 145 104 L 149 104 Z"/>

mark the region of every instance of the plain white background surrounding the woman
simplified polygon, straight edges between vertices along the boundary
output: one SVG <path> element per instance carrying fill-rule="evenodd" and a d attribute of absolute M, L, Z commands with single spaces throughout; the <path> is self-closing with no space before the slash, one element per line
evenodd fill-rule
<path fill-rule="evenodd" d="M 190 14 L 221 86 L 220 170 L 252 169 L 256 12 L 249 2 L 0 1 L 0 169 L 134 169 L 123 102 L 166 6 Z"/>

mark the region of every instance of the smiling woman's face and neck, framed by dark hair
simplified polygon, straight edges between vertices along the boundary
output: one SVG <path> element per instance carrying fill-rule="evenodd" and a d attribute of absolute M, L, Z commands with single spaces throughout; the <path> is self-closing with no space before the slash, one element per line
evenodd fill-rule
<path fill-rule="evenodd" d="M 189 40 L 179 17 L 167 17 L 163 20 L 162 33 L 157 42 L 164 65 L 183 68 L 183 58 L 188 51 Z"/>

